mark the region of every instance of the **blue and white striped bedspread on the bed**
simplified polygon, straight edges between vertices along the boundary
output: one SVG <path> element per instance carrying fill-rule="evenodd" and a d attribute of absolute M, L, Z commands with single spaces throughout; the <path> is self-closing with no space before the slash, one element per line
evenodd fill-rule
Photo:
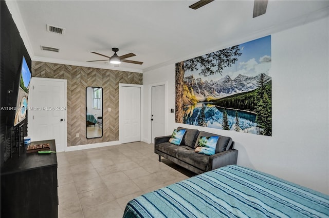
<path fill-rule="evenodd" d="M 329 217 L 329 196 L 229 165 L 136 197 L 123 217 Z"/>

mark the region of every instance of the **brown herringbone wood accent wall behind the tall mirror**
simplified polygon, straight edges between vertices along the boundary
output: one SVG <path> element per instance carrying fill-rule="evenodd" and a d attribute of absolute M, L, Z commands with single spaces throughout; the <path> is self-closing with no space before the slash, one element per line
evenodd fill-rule
<path fill-rule="evenodd" d="M 143 84 L 142 73 L 32 62 L 32 76 L 67 80 L 67 146 L 119 140 L 119 83 Z M 86 87 L 103 88 L 103 137 L 86 138 Z M 111 108 L 108 112 L 107 108 Z M 80 137 L 76 137 L 79 133 Z"/>

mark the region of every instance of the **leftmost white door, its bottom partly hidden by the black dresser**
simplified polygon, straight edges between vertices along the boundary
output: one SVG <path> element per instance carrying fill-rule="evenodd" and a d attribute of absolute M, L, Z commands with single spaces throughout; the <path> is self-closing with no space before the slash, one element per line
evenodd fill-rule
<path fill-rule="evenodd" d="M 66 80 L 32 77 L 28 109 L 31 141 L 54 139 L 56 150 L 64 151 L 67 146 Z"/>

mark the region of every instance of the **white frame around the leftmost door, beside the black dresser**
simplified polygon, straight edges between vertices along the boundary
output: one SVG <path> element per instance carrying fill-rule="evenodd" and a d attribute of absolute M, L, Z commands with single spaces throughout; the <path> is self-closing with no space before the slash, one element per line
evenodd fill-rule
<path fill-rule="evenodd" d="M 59 78 L 44 78 L 44 77 L 31 77 L 31 81 L 52 81 L 52 82 L 64 82 L 64 105 L 66 107 L 65 113 L 64 113 L 64 146 L 63 146 L 63 150 L 58 149 L 58 152 L 61 151 L 66 151 L 67 150 L 67 80 L 64 79 L 59 79 Z M 33 86 L 33 82 L 31 83 L 31 85 Z M 33 87 L 32 87 L 33 88 Z M 29 114 L 28 114 L 29 117 Z M 30 117 L 31 119 L 32 117 Z M 29 118 L 28 118 L 29 119 Z M 29 125 L 29 124 L 28 124 Z"/>

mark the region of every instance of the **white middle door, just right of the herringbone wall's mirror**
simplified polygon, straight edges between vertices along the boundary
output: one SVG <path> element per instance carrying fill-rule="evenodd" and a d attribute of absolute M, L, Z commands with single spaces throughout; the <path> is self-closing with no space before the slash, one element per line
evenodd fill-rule
<path fill-rule="evenodd" d="M 141 86 L 120 84 L 119 140 L 121 143 L 140 141 Z"/>

